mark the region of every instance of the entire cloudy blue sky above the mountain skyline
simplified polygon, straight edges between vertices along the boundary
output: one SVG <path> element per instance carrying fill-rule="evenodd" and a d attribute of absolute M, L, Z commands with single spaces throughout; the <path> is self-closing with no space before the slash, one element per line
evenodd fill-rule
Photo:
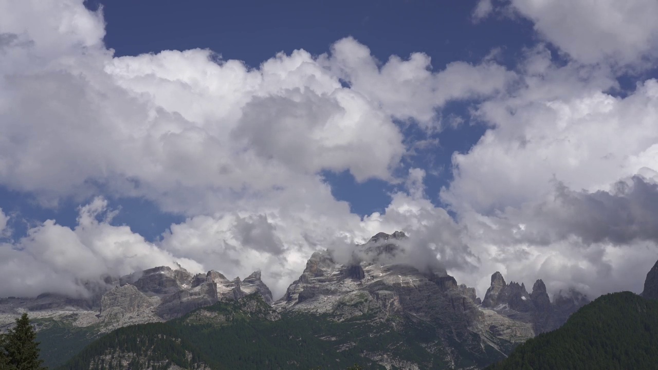
<path fill-rule="evenodd" d="M 403 230 L 484 296 L 642 291 L 655 0 L 0 0 L 0 296 L 176 264 L 274 296 Z M 420 266 L 419 266 L 420 267 Z"/>

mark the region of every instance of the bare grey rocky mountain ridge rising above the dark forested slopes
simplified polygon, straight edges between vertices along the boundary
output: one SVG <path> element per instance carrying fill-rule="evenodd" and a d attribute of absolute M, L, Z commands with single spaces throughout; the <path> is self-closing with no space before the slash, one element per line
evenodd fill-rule
<path fill-rule="evenodd" d="M 432 365 L 432 358 L 440 353 L 445 363 L 466 369 L 505 356 L 515 343 L 559 326 L 585 302 L 565 298 L 570 305 L 558 309 L 550 302 L 542 280 L 535 282 L 528 294 L 524 284 L 506 284 L 500 273 L 492 275 L 491 292 L 480 300 L 474 288 L 457 284 L 438 261 L 426 263 L 422 270 L 405 263 L 407 240 L 403 232 L 380 232 L 355 246 L 342 263 L 332 251 L 316 251 L 303 273 L 276 301 L 259 271 L 244 280 L 231 280 L 218 271 L 192 275 L 180 267 L 162 266 L 124 277 L 105 277 L 113 288 L 89 301 L 46 295 L 23 303 L 47 307 L 32 311 L 45 332 L 52 332 L 57 323 L 66 328 L 61 330 L 82 333 L 80 344 L 84 344 L 120 327 L 170 321 L 218 302 L 240 302 L 255 294 L 279 316 L 302 315 L 311 321 L 321 317 L 335 325 L 356 320 L 363 332 L 388 332 L 382 338 L 397 349 L 366 351 L 361 356 L 369 361 L 416 369 Z M 57 311 L 58 299 L 66 309 Z M 0 300 L 0 312 L 5 312 L 5 317 L 7 307 L 20 308 L 16 302 L 3 302 Z M 423 332 L 427 340 L 420 346 L 407 343 L 412 332 Z M 64 332 L 56 330 L 55 334 Z M 355 340 L 350 335 L 336 332 L 333 341 L 350 348 Z M 54 342 L 44 348 L 45 354 L 61 350 L 57 341 L 45 338 L 45 342 Z M 407 357 L 411 352 L 422 360 Z"/>

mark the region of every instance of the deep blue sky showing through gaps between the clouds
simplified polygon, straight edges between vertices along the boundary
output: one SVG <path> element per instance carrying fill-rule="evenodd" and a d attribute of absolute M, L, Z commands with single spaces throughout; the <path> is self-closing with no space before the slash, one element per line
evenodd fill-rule
<path fill-rule="evenodd" d="M 325 53 L 334 41 L 352 36 L 368 45 L 374 57 L 386 61 L 390 55 L 408 57 L 422 52 L 432 58 L 432 66 L 441 69 L 453 61 L 477 63 L 493 49 L 501 49 L 499 60 L 515 67 L 515 55 L 535 42 L 532 24 L 522 20 L 488 20 L 474 24 L 472 9 L 476 1 L 344 1 L 307 2 L 240 1 L 220 4 L 216 1 L 86 1 L 96 11 L 103 7 L 107 47 L 117 57 L 159 53 L 163 50 L 211 49 L 224 59 L 239 59 L 258 67 L 279 52 L 305 49 L 313 55 Z M 451 180 L 451 155 L 466 152 L 484 134 L 486 127 L 471 122 L 469 101 L 455 101 L 442 110 L 446 117 L 464 120 L 459 128 L 447 128 L 428 135 L 414 127 L 407 128 L 408 140 L 434 138 L 439 145 L 411 158 L 409 166 L 426 169 L 428 196 L 436 204 L 438 193 Z M 404 122 L 399 122 L 405 127 Z M 430 173 L 436 171 L 436 174 Z M 395 186 L 370 179 L 357 182 L 349 171 L 324 171 L 337 199 L 349 202 L 353 213 L 361 216 L 384 211 Z M 43 209 L 30 202 L 30 194 L 19 194 L 3 187 L 0 207 L 20 212 L 26 220 L 57 219 L 66 226 L 75 225 L 76 201 L 57 208 Z M 5 194 L 5 192 L 7 192 Z M 86 199 L 88 200 L 88 199 Z M 153 240 L 172 222 L 182 217 L 159 211 L 145 199 L 111 199 L 122 211 L 114 223 L 131 226 Z M 84 202 L 82 202 L 84 203 Z M 14 237 L 23 235 L 25 225 L 16 225 Z"/>

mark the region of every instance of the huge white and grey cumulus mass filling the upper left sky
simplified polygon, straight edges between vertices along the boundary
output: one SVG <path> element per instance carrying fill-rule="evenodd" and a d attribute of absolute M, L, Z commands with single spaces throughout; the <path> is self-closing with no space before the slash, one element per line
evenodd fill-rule
<path fill-rule="evenodd" d="M 407 150 L 393 119 L 438 124 L 445 102 L 499 92 L 511 76 L 489 62 L 433 72 L 421 53 L 380 65 L 353 38 L 252 69 L 201 49 L 113 57 L 101 13 L 55 3 L 4 4 L 0 26 L 0 182 L 44 203 L 100 185 L 197 215 L 323 170 L 392 181 Z"/>

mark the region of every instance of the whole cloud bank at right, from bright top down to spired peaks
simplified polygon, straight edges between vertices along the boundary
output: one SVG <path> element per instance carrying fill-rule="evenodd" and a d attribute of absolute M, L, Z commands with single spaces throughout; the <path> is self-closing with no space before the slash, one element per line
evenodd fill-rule
<path fill-rule="evenodd" d="M 552 292 L 639 292 L 658 259 L 658 83 L 619 97 L 607 93 L 616 82 L 605 66 L 557 66 L 542 46 L 524 58 L 518 89 L 476 111 L 490 128 L 453 154 L 441 198 L 481 262 L 477 277 L 455 276 L 478 292 L 495 271 L 526 284 L 542 278 Z"/>

